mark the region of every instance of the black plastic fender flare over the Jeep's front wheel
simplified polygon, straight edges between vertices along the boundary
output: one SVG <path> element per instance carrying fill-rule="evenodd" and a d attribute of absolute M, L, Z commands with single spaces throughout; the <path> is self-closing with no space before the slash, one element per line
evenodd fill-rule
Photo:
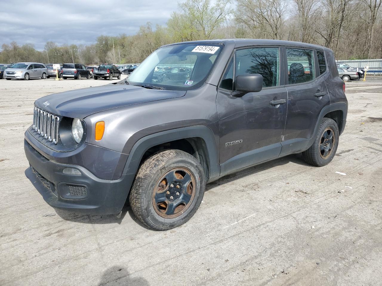
<path fill-rule="evenodd" d="M 209 179 L 218 177 L 220 175 L 219 148 L 216 146 L 212 130 L 202 125 L 165 130 L 142 137 L 131 148 L 123 174 L 136 174 L 139 163 L 149 148 L 170 141 L 194 137 L 201 138 L 206 143 L 208 156 L 206 164 L 209 169 Z"/>

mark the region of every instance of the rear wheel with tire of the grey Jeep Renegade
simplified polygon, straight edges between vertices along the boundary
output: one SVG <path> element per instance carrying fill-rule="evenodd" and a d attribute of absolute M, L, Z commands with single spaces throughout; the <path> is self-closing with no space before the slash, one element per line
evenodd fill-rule
<path fill-rule="evenodd" d="M 324 117 L 312 146 L 303 152 L 304 160 L 317 167 L 329 164 L 337 151 L 339 136 L 337 123 L 331 118 Z"/>

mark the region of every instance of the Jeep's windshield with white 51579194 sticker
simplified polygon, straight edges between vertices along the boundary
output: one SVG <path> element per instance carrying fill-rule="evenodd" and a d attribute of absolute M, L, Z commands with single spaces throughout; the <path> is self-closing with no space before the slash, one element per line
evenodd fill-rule
<path fill-rule="evenodd" d="M 195 43 L 159 48 L 136 67 L 128 77 L 128 83 L 168 90 L 200 87 L 209 76 L 221 50 L 222 45 Z"/>

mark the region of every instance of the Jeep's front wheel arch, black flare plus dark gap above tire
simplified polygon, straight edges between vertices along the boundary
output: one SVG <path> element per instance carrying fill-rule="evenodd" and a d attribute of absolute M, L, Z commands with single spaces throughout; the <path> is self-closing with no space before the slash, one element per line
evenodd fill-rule
<path fill-rule="evenodd" d="M 123 174 L 136 174 L 140 164 L 163 149 L 180 149 L 194 157 L 205 169 L 206 178 L 220 175 L 219 152 L 214 133 L 206 126 L 166 130 L 139 139 L 129 152 Z"/>

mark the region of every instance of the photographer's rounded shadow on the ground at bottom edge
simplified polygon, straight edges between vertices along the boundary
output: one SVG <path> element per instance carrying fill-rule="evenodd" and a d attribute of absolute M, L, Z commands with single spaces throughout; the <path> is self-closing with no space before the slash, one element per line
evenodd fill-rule
<path fill-rule="evenodd" d="M 114 265 L 104 271 L 97 285 L 149 286 L 150 284 L 142 277 L 131 277 L 123 266 Z"/>

